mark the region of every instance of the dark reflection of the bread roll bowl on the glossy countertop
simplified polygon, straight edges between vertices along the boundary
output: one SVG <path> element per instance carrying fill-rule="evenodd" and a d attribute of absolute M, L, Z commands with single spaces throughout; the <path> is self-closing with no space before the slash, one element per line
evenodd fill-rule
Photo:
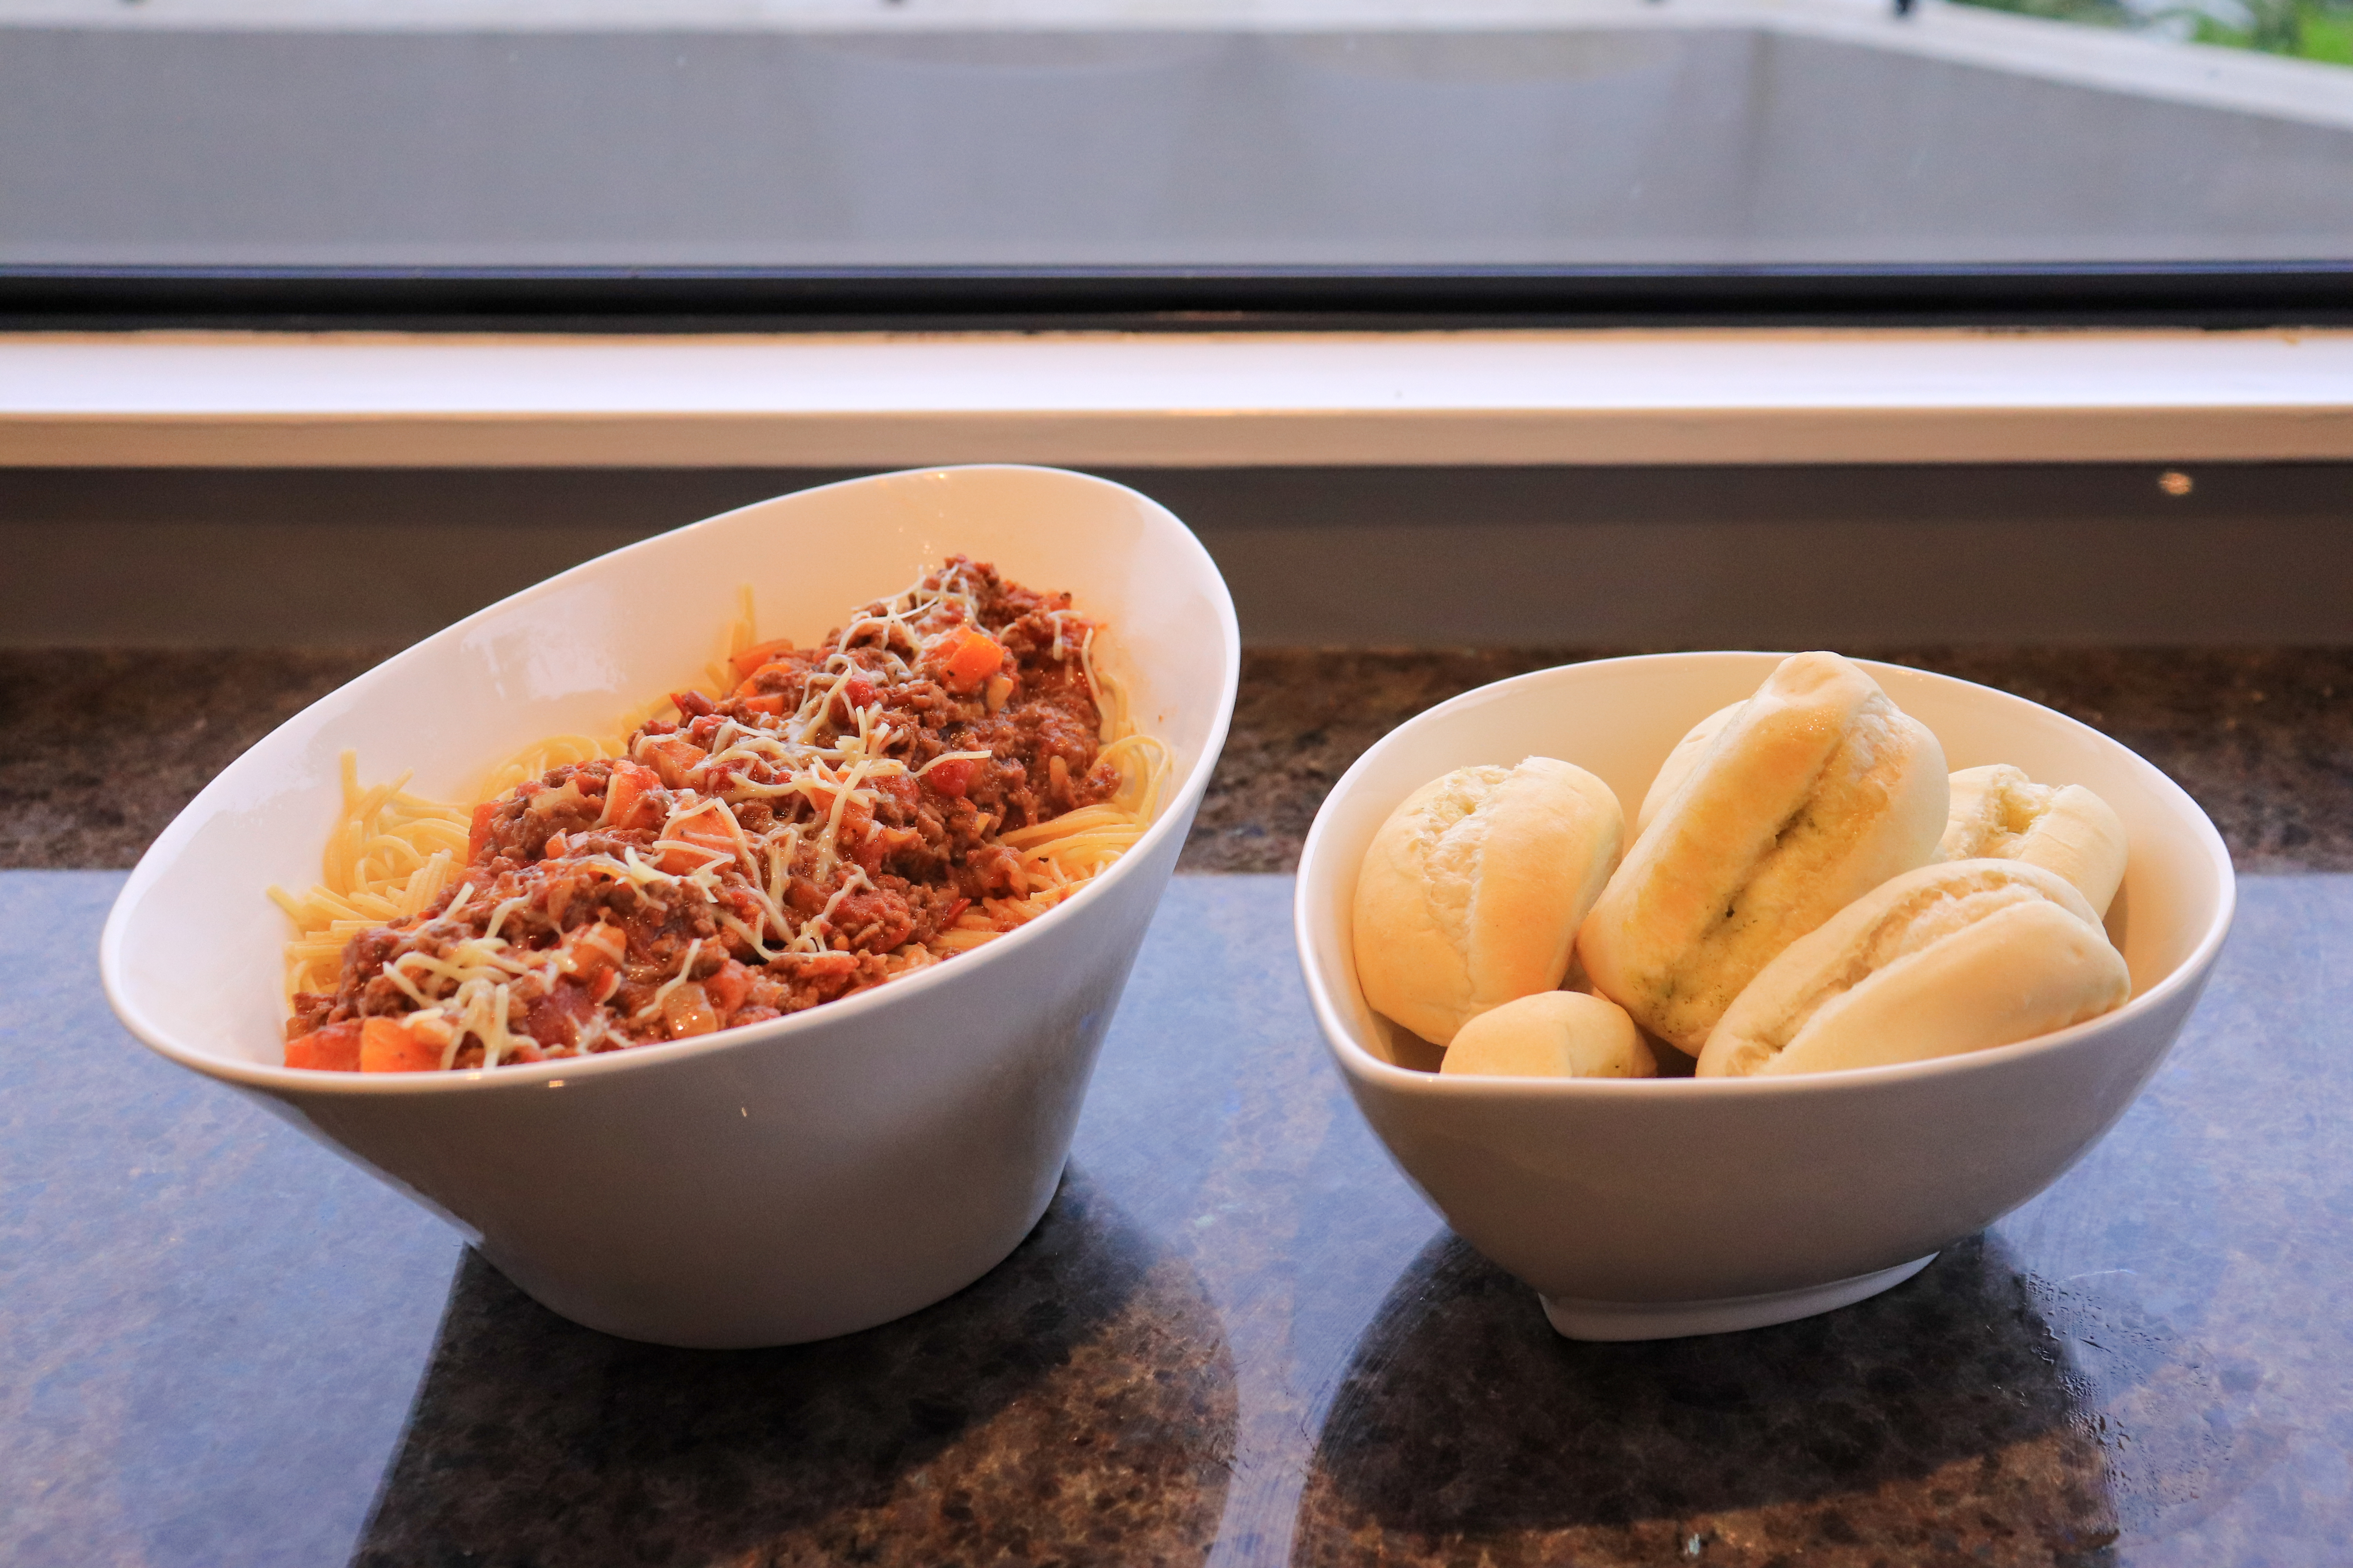
<path fill-rule="evenodd" d="M 1569 1345 L 1527 1305 L 1457 1237 L 1414 1258 L 1332 1399 L 1294 1561 L 1473 1540 L 1497 1568 L 1871 1561 L 1993 1537 L 2005 1561 L 2040 1561 L 2118 1537 L 2092 1413 L 2000 1241 L 1739 1335 Z"/>

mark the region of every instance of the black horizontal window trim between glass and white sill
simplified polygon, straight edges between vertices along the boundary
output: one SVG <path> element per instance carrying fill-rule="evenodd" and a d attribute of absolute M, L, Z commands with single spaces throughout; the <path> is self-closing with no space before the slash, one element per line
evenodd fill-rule
<path fill-rule="evenodd" d="M 0 266 L 0 331 L 2344 327 L 2353 261 L 1492 268 Z"/>

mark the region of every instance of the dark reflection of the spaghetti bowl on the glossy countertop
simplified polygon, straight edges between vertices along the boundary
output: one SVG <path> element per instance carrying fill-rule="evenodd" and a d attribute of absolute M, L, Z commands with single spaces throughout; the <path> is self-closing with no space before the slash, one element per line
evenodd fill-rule
<path fill-rule="evenodd" d="M 468 1253 L 353 1561 L 1200 1563 L 1231 1465 L 1217 1307 L 1073 1164 L 976 1286 L 819 1345 L 614 1340 Z"/>

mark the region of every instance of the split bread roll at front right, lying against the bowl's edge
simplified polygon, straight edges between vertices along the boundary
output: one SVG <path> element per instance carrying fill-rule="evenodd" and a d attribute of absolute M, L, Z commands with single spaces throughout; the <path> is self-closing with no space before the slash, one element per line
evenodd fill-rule
<path fill-rule="evenodd" d="M 2071 882 L 2024 860 L 1946 860 L 1781 950 L 1708 1034 L 1699 1077 L 1986 1051 L 2129 994 L 2125 959 Z"/>

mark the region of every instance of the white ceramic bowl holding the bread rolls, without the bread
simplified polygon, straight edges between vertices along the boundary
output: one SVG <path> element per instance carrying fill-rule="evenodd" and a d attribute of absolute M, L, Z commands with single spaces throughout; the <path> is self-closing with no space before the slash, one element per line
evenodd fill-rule
<path fill-rule="evenodd" d="M 1355 867 L 1388 811 L 1449 769 L 1546 755 L 1600 773 L 1631 816 L 1685 729 L 1755 691 L 1779 658 L 1609 658 L 1464 693 L 1348 769 L 1299 860 L 1299 959 L 1358 1107 L 1447 1222 L 1532 1284 L 1572 1338 L 1753 1328 L 1908 1279 L 2115 1124 L 2231 929 L 2221 835 L 2148 762 L 2024 698 L 1873 663 L 1953 769 L 2014 762 L 2115 806 L 2132 858 L 2108 933 L 2132 1001 L 1995 1051 L 1812 1077 L 1417 1070 L 1438 1051 L 1365 1006 L 1348 943 Z"/>

